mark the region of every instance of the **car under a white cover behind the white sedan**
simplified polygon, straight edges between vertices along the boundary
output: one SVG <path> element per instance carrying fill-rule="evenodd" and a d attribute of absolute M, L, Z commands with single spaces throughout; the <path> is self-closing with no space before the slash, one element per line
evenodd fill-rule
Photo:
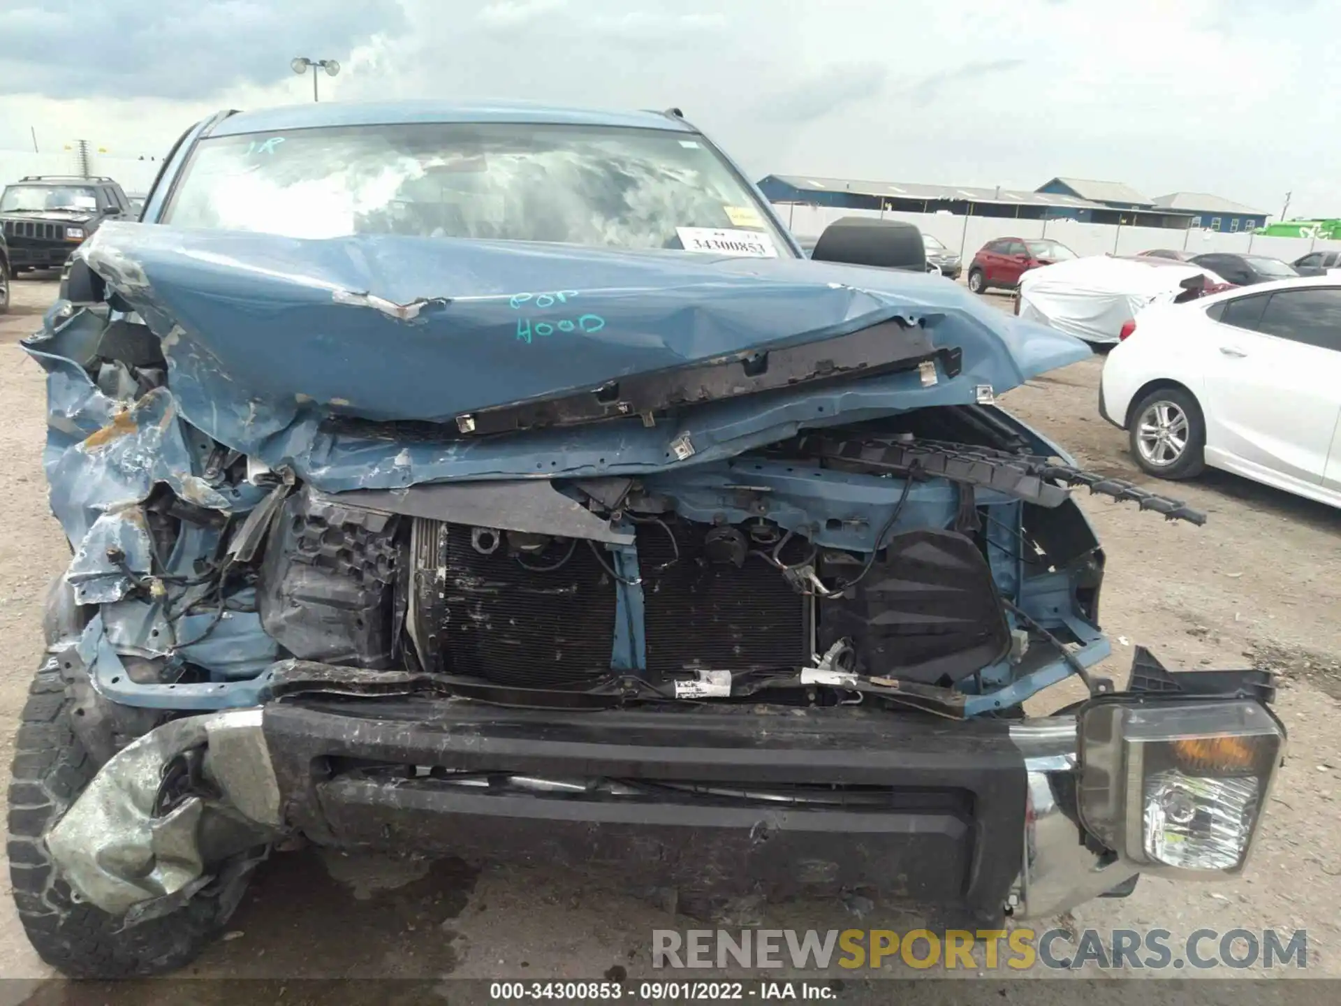
<path fill-rule="evenodd" d="M 1090 343 L 1117 342 L 1147 304 L 1175 303 L 1227 290 L 1218 275 L 1173 259 L 1096 255 L 1030 270 L 1021 278 L 1016 314 Z"/>

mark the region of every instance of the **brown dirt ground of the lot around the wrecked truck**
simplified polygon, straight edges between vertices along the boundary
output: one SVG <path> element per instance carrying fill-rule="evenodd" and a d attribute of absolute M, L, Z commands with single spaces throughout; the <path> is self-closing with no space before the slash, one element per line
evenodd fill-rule
<path fill-rule="evenodd" d="M 12 313 L 0 319 L 0 414 L 8 416 L 0 424 L 7 460 L 0 512 L 8 515 L 0 537 L 0 645 L 9 653 L 0 673 L 0 785 L 8 778 L 13 716 L 39 660 L 39 597 L 68 558 L 47 512 L 40 469 L 40 372 L 15 345 L 39 326 L 55 284 L 20 279 L 13 291 Z M 1030 382 L 1008 396 L 1008 405 L 1082 465 L 1139 480 L 1124 435 L 1096 412 L 1101 365 L 1094 357 Z M 1214 472 L 1161 488 L 1206 510 L 1207 526 L 1167 524 L 1130 504 L 1084 500 L 1108 551 L 1102 616 L 1114 656 L 1104 671 L 1125 680 L 1136 642 L 1175 667 L 1271 667 L 1282 675 L 1278 710 L 1290 728 L 1291 757 L 1257 858 L 1240 880 L 1175 885 L 1143 879 L 1132 897 L 1090 903 L 1062 921 L 1102 930 L 1161 926 L 1175 939 L 1202 926 L 1306 927 L 1309 974 L 1341 976 L 1341 511 Z M 7 869 L 4 877 L 7 893 Z M 735 924 L 912 924 L 878 909 L 858 921 L 857 904 L 742 911 Z M 633 978 L 650 972 L 650 931 L 670 927 L 692 923 L 562 875 L 304 850 L 267 864 L 229 939 L 207 951 L 190 974 Z M 17 1001 L 20 989 L 34 986 L 39 999 L 50 998 L 54 986 L 39 981 L 50 972 L 32 955 L 7 896 L 0 899 L 0 960 L 4 975 L 34 979 L 32 986 L 9 983 L 0 999 Z M 1057 987 L 1058 1001 L 1061 994 Z M 98 1001 L 119 998 L 106 991 Z M 165 987 L 141 986 L 134 998 L 174 1001 Z"/>

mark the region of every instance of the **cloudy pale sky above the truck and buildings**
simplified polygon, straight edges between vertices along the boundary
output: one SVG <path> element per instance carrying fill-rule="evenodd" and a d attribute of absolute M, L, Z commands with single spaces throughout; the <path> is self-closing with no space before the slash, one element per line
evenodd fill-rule
<path fill-rule="evenodd" d="M 169 9 L 170 8 L 170 9 Z M 1341 215 L 1341 5 L 1313 0 L 0 0 L 0 149 L 158 154 L 219 107 L 679 106 L 755 177 L 1212 192 Z"/>

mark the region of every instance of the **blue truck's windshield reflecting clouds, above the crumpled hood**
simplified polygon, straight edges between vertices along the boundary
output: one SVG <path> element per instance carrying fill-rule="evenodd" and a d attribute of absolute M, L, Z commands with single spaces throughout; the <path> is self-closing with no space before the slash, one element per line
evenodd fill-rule
<path fill-rule="evenodd" d="M 392 233 L 684 248 L 747 227 L 786 248 L 705 139 L 649 129 L 414 125 L 207 139 L 168 223 L 290 237 Z"/>

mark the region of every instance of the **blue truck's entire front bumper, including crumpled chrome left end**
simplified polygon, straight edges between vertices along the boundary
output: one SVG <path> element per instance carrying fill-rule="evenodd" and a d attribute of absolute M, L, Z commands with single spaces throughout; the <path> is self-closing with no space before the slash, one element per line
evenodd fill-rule
<path fill-rule="evenodd" d="M 1187 684 L 1199 673 L 1210 677 Z M 670 888 L 685 907 L 864 889 L 988 926 L 1004 911 L 1046 916 L 1125 892 L 1139 873 L 1171 873 L 1121 838 L 1105 845 L 1084 824 L 1086 807 L 1126 807 L 1118 791 L 1129 789 L 1116 775 L 1096 786 L 1084 765 L 1094 740 L 1077 726 L 1086 710 L 1121 704 L 1159 719 L 1161 708 L 1185 715 L 1189 702 L 1216 697 L 1269 718 L 1270 687 L 1252 675 L 1171 675 L 1140 651 L 1139 691 L 1014 723 L 861 707 L 557 711 L 440 695 L 299 695 L 174 720 L 135 740 L 102 769 L 48 845 L 95 904 L 99 892 L 117 892 L 109 911 L 126 911 L 127 891 L 145 877 L 153 881 L 146 900 L 176 893 L 164 877 L 192 883 L 190 868 L 207 869 L 211 856 L 182 856 L 189 842 L 180 829 L 173 869 L 138 867 L 156 861 L 153 837 L 164 832 L 143 809 L 161 802 L 160 779 L 184 755 L 178 738 L 202 734 L 209 787 L 200 834 L 217 834 L 208 814 L 220 791 L 233 817 L 267 809 L 243 814 L 256 828 L 236 854 L 255 854 L 276 832 L 302 832 L 331 846 L 561 865 L 637 889 Z M 194 722 L 209 728 L 184 731 Z M 216 752 L 215 738 L 228 746 Z M 1112 747 L 1112 736 L 1100 740 Z M 154 759 L 162 765 L 149 765 Z M 109 799 L 118 789 L 127 799 Z M 118 830 L 109 824 L 115 806 L 143 813 Z M 278 825 L 270 807 L 282 807 Z M 1118 825 L 1139 833 L 1140 802 L 1121 814 Z M 103 856 L 99 844 L 122 854 Z M 123 854 L 139 845 L 143 856 Z M 109 876 L 118 862 L 135 864 L 135 876 Z M 1219 872 L 1240 868 L 1242 860 Z"/>

